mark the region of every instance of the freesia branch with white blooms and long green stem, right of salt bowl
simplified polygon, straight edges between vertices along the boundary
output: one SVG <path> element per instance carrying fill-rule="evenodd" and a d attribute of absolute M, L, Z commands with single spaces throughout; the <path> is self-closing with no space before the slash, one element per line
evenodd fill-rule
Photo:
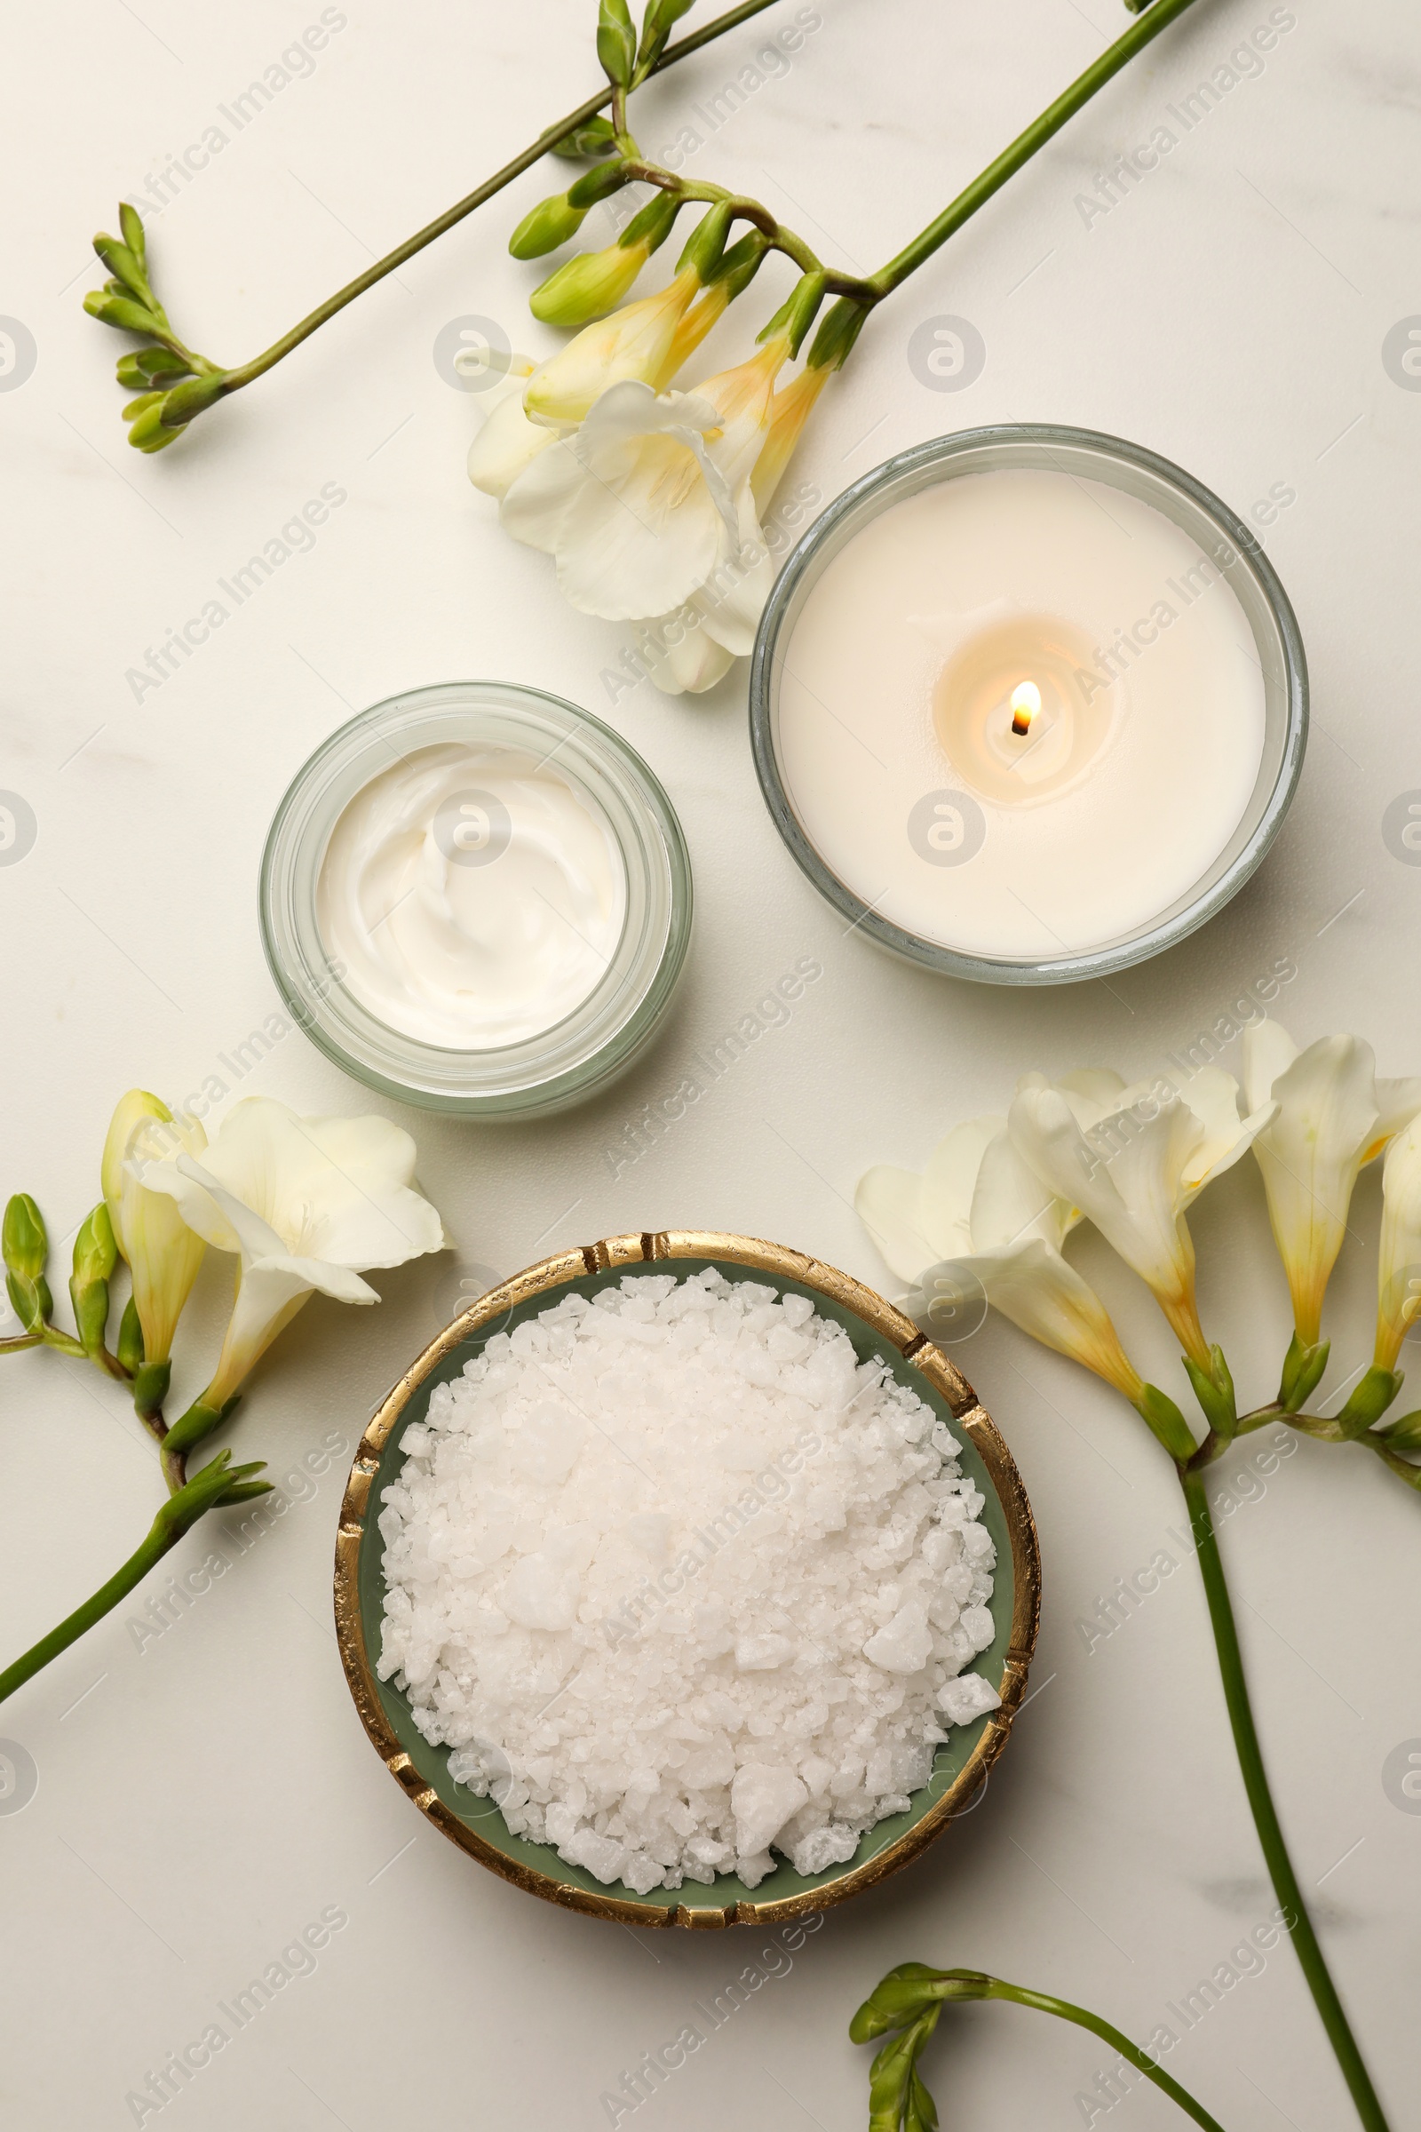
<path fill-rule="evenodd" d="M 1372 1051 L 1357 1038 L 1323 1038 L 1300 1051 L 1285 1030 L 1263 1021 L 1244 1036 L 1242 1094 L 1246 1115 L 1238 1083 L 1214 1066 L 1199 1068 L 1182 1092 L 1165 1081 L 1125 1085 L 1097 1068 L 1055 1083 L 1025 1075 L 1006 1115 L 957 1126 L 922 1175 L 869 1170 L 856 1207 L 886 1262 L 914 1283 L 905 1309 L 929 1337 L 935 1311 L 946 1305 L 954 1324 L 978 1294 L 1123 1392 L 1170 1454 L 1268 1872 L 1357 2117 L 1366 2132 L 1385 2132 L 1268 1784 L 1206 1473 L 1238 1435 L 1280 1422 L 1317 1441 L 1363 1443 L 1398 1480 L 1421 1488 L 1421 1465 L 1404 1456 L 1421 1452 L 1421 1414 L 1381 1426 L 1402 1388 L 1393 1364 L 1421 1307 L 1421 1079 L 1378 1081 Z M 1374 1360 L 1334 1418 L 1312 1416 L 1304 1407 L 1329 1356 L 1321 1339 L 1327 1279 L 1357 1175 L 1383 1149 Z M 1199 1322 L 1187 1209 L 1248 1151 L 1263 1177 L 1295 1326 L 1276 1399 L 1240 1416 L 1223 1347 L 1206 1339 Z M 1144 1382 L 1104 1303 L 1065 1260 L 1065 1239 L 1080 1222 L 1091 1222 L 1146 1283 L 1180 1337 L 1199 1426 Z"/>

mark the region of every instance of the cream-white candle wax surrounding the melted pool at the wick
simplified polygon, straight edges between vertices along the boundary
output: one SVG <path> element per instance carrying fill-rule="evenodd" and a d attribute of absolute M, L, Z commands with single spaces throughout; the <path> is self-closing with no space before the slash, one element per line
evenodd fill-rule
<path fill-rule="evenodd" d="M 942 863 L 957 827 L 925 851 L 912 814 L 969 778 L 935 691 L 1014 616 L 1027 637 L 1057 616 L 1091 652 L 1129 633 L 1118 676 L 1097 667 L 1108 740 L 1046 797 L 978 791 L 984 836 Z M 1216 561 L 1067 473 L 961 475 L 893 505 L 829 563 L 784 659 L 780 761 L 810 842 L 886 919 L 978 955 L 1052 959 L 1167 910 L 1229 846 L 1261 753 L 1257 646 Z"/>

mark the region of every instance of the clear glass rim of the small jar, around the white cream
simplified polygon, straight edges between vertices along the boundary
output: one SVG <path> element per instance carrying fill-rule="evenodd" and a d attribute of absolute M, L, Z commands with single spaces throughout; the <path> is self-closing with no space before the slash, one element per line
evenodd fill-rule
<path fill-rule="evenodd" d="M 558 776 L 605 823 L 626 876 L 622 934 L 599 983 L 554 1028 L 499 1049 L 445 1049 L 379 1021 L 341 983 L 320 932 L 320 868 L 345 806 L 392 755 L 439 742 L 556 757 Z M 262 947 L 296 1025 L 366 1087 L 462 1117 L 539 1115 L 616 1079 L 671 1002 L 690 921 L 690 855 L 656 774 L 601 718 L 524 682 L 437 682 L 358 712 L 300 765 L 262 853 Z"/>

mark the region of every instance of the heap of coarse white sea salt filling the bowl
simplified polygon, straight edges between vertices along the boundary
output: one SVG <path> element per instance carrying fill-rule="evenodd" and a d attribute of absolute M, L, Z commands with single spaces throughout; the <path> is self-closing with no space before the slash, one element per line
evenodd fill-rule
<path fill-rule="evenodd" d="M 383 1490 L 381 1680 L 635 1893 L 816 1874 L 999 1695 L 961 1445 L 805 1296 L 633 1273 L 494 1335 Z"/>

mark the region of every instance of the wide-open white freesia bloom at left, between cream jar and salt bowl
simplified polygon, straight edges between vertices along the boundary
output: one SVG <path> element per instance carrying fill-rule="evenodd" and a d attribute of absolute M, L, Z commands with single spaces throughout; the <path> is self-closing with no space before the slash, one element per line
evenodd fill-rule
<path fill-rule="evenodd" d="M 234 1104 L 202 1162 L 179 1153 L 141 1166 L 143 1185 L 168 1194 L 196 1237 L 241 1258 L 207 1407 L 234 1396 L 311 1294 L 379 1303 L 360 1271 L 443 1249 L 413 1170 L 415 1143 L 388 1119 L 296 1117 L 266 1096 Z"/>

